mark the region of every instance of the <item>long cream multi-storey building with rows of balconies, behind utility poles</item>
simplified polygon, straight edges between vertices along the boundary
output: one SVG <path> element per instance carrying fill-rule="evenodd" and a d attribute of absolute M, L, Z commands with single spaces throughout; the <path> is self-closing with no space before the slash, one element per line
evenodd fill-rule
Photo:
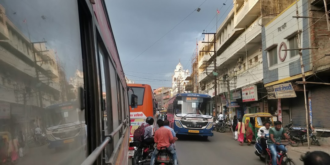
<path fill-rule="evenodd" d="M 205 42 L 216 41 L 216 70 L 212 63 L 215 55 L 213 46 L 200 42 L 202 46 L 199 50 L 204 53 L 199 54 L 199 88 L 203 93 L 215 97 L 215 75 L 219 82 L 217 109 L 229 113 L 230 117 L 243 117 L 246 113 L 263 112 L 266 94 L 263 94 L 261 27 L 291 3 L 279 0 L 234 0 L 234 4 L 217 29 L 216 39 L 211 34 L 205 36 Z"/>

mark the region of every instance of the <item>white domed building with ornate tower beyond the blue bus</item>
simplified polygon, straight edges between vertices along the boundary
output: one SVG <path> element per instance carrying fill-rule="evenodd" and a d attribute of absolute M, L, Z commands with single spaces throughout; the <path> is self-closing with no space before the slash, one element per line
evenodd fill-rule
<path fill-rule="evenodd" d="M 189 82 L 186 80 L 190 76 L 189 70 L 184 70 L 182 64 L 180 63 L 176 66 L 174 70 L 174 75 L 172 75 L 172 96 L 177 93 L 187 93 L 185 91 L 185 86 Z"/>

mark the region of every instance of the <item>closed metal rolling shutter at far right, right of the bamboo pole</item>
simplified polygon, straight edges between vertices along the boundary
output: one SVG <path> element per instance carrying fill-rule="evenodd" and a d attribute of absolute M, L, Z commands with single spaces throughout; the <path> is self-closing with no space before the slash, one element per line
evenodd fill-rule
<path fill-rule="evenodd" d="M 311 90 L 313 127 L 330 129 L 330 86 L 317 86 Z"/>

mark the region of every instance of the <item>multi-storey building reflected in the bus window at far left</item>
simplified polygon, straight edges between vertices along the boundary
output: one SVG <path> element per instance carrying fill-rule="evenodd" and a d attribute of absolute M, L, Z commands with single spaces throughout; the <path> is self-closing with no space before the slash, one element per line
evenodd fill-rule
<path fill-rule="evenodd" d="M 19 123 L 27 132 L 42 125 L 44 108 L 60 99 L 55 52 L 46 42 L 32 43 L 3 6 L 0 12 L 0 108 L 6 110 L 0 118 Z"/>

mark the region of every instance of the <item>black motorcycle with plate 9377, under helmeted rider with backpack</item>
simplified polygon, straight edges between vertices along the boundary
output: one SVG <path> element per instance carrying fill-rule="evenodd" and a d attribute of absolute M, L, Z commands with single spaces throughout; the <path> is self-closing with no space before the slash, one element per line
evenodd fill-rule
<path fill-rule="evenodd" d="M 128 156 L 132 158 L 132 165 L 142 165 L 143 163 L 150 162 L 154 145 L 146 145 L 133 140 L 128 148 Z"/>

